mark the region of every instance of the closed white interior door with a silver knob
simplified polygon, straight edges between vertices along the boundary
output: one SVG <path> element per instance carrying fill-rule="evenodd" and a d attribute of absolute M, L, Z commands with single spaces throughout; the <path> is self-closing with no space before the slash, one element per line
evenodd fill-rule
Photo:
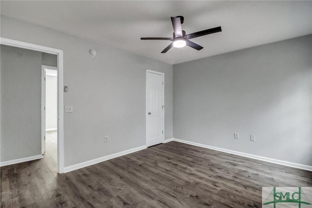
<path fill-rule="evenodd" d="M 146 145 L 164 141 L 164 74 L 146 70 Z"/>

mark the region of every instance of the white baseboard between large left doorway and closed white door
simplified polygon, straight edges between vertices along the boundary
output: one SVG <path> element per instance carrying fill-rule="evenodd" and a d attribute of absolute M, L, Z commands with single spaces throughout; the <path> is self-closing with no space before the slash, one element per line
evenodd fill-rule
<path fill-rule="evenodd" d="M 107 160 L 111 160 L 111 159 L 114 159 L 114 158 L 117 158 L 117 157 L 120 157 L 120 156 L 123 156 L 123 155 L 134 153 L 134 152 L 146 149 L 146 148 L 147 148 L 147 146 L 145 146 L 145 145 L 138 146 L 138 147 L 135 147 L 135 148 L 132 148 L 132 149 L 127 149 L 127 150 L 124 150 L 124 151 L 121 151 L 121 152 L 117 152 L 117 153 L 114 153 L 114 154 L 111 154 L 111 155 L 107 155 L 107 156 L 104 156 L 104 157 L 100 157 L 100 158 L 96 158 L 96 159 L 89 160 L 89 161 L 86 161 L 86 162 L 78 163 L 78 164 L 75 164 L 75 165 L 72 165 L 72 166 L 67 166 L 67 167 L 64 167 L 64 173 L 67 173 L 67 172 L 70 172 L 70 171 L 73 171 L 73 170 L 77 170 L 77 169 L 80 169 L 80 168 L 86 167 L 86 166 L 92 166 L 92 165 L 95 165 L 97 163 L 101 163 L 101 162 L 104 162 L 104 161 L 107 161 Z"/>

